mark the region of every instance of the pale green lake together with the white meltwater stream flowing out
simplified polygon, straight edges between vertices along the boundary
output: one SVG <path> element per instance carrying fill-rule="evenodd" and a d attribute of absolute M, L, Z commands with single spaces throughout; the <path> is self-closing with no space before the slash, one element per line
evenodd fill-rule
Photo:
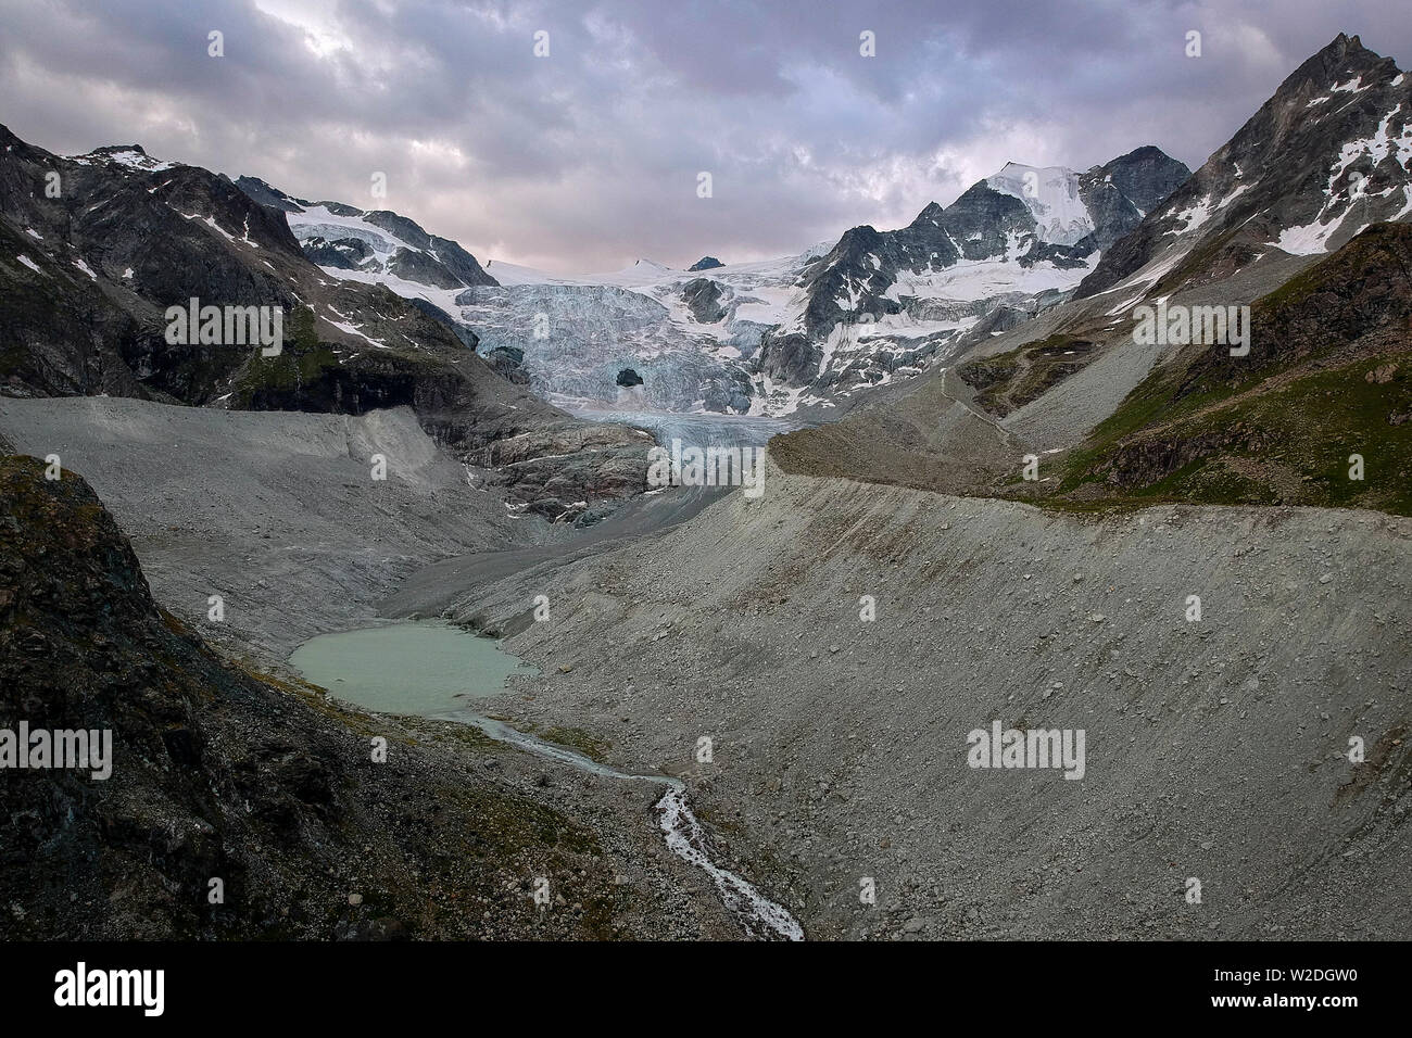
<path fill-rule="evenodd" d="M 467 709 L 465 703 L 469 699 L 486 699 L 503 692 L 505 676 L 522 667 L 490 638 L 439 620 L 395 623 L 311 638 L 295 650 L 289 662 L 306 679 L 339 699 L 370 710 L 473 724 L 498 743 L 579 771 L 665 787 L 657 809 L 671 852 L 712 877 L 726 908 L 751 936 L 803 939 L 803 928 L 782 905 L 712 860 L 706 833 L 686 805 L 686 784 L 682 780 L 618 771 Z"/>

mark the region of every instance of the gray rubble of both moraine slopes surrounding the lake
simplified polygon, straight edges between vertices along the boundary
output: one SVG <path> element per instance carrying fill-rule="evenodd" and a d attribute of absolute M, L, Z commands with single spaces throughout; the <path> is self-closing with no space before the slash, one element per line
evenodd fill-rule
<path fill-rule="evenodd" d="M 722 864 L 810 938 L 1412 936 L 1409 520 L 1075 517 L 771 466 L 758 500 L 558 545 L 405 412 L 4 401 L 0 435 L 85 475 L 230 654 L 443 609 L 508 637 L 541 674 L 497 715 L 685 778 Z M 370 493 L 376 452 L 397 477 Z M 1084 777 L 967 767 L 993 722 L 1084 730 Z M 600 794 L 626 795 L 575 797 Z"/>

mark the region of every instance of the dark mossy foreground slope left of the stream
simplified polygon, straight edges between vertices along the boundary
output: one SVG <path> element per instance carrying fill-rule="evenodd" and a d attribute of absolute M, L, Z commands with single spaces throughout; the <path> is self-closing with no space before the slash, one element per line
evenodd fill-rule
<path fill-rule="evenodd" d="M 0 458 L 0 727 L 107 730 L 110 775 L 6 771 L 0 936 L 731 933 L 710 895 L 681 895 L 645 804 L 217 657 L 158 610 L 88 484 L 44 467 Z M 534 902 L 537 876 L 562 907 Z"/>

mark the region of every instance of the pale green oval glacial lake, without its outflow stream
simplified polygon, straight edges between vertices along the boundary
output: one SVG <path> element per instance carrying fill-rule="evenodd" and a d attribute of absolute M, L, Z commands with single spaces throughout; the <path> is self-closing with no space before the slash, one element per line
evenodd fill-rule
<path fill-rule="evenodd" d="M 504 692 L 517 671 L 538 674 L 496 645 L 445 620 L 408 620 L 321 634 L 299 645 L 289 664 L 364 709 L 441 717 Z"/>

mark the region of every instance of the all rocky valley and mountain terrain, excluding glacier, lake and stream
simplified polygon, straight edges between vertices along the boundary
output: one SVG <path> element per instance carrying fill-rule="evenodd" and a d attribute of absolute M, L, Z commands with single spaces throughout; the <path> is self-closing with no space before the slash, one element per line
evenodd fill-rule
<path fill-rule="evenodd" d="M 661 788 L 350 709 L 287 662 L 316 634 L 443 616 L 538 668 L 493 722 L 679 778 L 712 860 L 809 938 L 1412 938 L 1412 177 L 1368 136 L 1406 89 L 1340 35 L 1189 179 L 1155 148 L 1036 171 L 1058 185 L 1036 212 L 1007 167 L 902 232 L 849 232 L 809 263 L 813 323 L 761 350 L 796 388 L 825 343 L 866 343 L 830 339 L 854 312 L 956 318 L 892 291 L 933 258 L 1101 258 L 1075 298 L 957 302 L 984 323 L 947 333 L 945 367 L 813 398 L 834 421 L 770 439 L 760 497 L 642 494 L 642 455 L 775 426 L 579 421 L 528 393 L 518 347 L 486 363 L 435 304 L 328 285 L 305 251 L 364 270 L 373 239 L 337 222 L 356 215 L 408 244 L 377 273 L 521 323 L 515 299 L 572 314 L 626 290 L 494 285 L 438 256 L 453 243 L 337 203 L 319 219 L 350 236 L 301 251 L 281 213 L 305 203 L 268 185 L 140 150 L 58 160 L 0 130 L 18 301 L 0 330 L 23 346 L 0 353 L 0 448 L 30 456 L 0 460 L 0 708 L 116 722 L 138 747 L 89 799 L 68 777 L 3 788 L 0 931 L 746 936 L 664 845 Z M 24 193 L 55 161 L 128 219 Z M 127 268 L 152 236 L 215 249 L 203 277 L 233 298 L 309 304 L 294 367 L 162 350 L 155 315 L 188 288 Z M 7 258 L 20 246 L 30 263 Z M 734 288 L 696 267 L 672 298 L 719 321 Z M 1251 305 L 1252 349 L 1138 345 L 1132 306 L 1158 295 Z M 394 326 L 387 356 L 356 342 Z M 628 359 L 602 373 L 626 393 Z M 873 362 L 833 359 L 868 381 Z M 695 402 L 699 380 L 675 388 Z M 34 460 L 51 455 L 61 480 Z M 1049 494 L 1073 490 L 1052 472 L 1079 490 Z M 1082 733 L 1082 760 L 974 767 L 991 726 Z M 369 767 L 374 733 L 394 767 Z M 209 912 L 216 869 L 264 893 Z M 72 907 L 65 874 L 102 897 Z M 561 891 L 544 914 L 525 885 L 542 874 Z"/>

